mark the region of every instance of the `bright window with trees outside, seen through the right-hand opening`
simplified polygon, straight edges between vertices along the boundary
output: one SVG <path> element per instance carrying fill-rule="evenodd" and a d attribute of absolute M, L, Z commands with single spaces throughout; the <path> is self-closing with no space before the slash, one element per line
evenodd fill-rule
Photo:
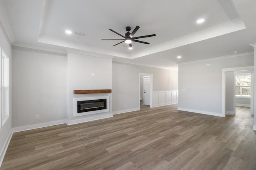
<path fill-rule="evenodd" d="M 236 75 L 236 97 L 251 96 L 251 75 Z"/>

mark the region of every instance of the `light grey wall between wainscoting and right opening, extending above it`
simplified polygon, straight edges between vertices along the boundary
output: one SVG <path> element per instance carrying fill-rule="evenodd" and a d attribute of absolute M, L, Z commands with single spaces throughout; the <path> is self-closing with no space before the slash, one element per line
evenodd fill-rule
<path fill-rule="evenodd" d="M 220 116 L 222 68 L 252 66 L 253 61 L 253 55 L 243 55 L 180 64 L 178 109 Z M 212 64 L 212 66 L 206 67 L 206 64 Z M 184 90 L 181 90 L 182 86 Z"/>

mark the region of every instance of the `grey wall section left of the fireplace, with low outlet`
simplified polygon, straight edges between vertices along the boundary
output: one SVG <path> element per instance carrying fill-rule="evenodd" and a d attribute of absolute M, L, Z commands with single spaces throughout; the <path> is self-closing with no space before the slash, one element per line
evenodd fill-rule
<path fill-rule="evenodd" d="M 66 119 L 66 55 L 23 47 L 12 53 L 13 127 Z"/>

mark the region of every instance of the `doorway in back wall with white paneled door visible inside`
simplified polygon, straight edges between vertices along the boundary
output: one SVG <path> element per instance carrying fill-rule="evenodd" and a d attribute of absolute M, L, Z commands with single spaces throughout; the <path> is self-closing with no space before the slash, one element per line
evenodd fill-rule
<path fill-rule="evenodd" d="M 144 105 L 149 105 L 150 108 L 152 108 L 152 94 L 153 94 L 153 74 L 139 73 L 139 93 L 138 93 L 139 109 L 140 109 L 141 102 Z"/>

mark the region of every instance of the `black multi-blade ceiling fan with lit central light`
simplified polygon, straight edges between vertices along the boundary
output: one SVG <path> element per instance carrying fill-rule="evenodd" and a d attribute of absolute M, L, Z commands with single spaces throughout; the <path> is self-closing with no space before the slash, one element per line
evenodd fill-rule
<path fill-rule="evenodd" d="M 133 37 L 134 34 L 138 31 L 139 28 L 140 28 L 139 26 L 136 26 L 136 28 L 134 28 L 134 30 L 132 31 L 132 33 L 130 33 L 129 31 L 131 30 L 131 27 L 126 27 L 126 31 L 127 31 L 127 32 L 125 33 L 124 36 L 121 35 L 121 34 L 119 34 L 118 32 L 115 32 L 115 31 L 112 30 L 112 29 L 109 29 L 110 31 L 112 31 L 112 32 L 114 32 L 114 33 L 116 33 L 116 34 L 118 34 L 119 36 L 123 37 L 124 39 L 101 39 L 101 40 L 124 40 L 124 41 L 122 41 L 122 42 L 120 42 L 120 43 L 125 42 L 125 43 L 129 44 L 129 49 L 132 49 L 132 42 L 139 42 L 139 43 L 149 44 L 148 42 L 142 42 L 142 41 L 139 41 L 139 40 L 136 40 L 136 39 L 139 39 L 139 38 L 146 38 L 146 37 L 153 37 L 153 36 L 156 36 L 156 34 L 151 34 L 151 35 L 148 35 L 148 36 Z M 114 46 L 116 46 L 116 45 L 118 45 L 118 44 L 120 44 L 120 43 L 117 43 L 117 44 L 113 45 L 112 47 L 114 47 Z"/>

